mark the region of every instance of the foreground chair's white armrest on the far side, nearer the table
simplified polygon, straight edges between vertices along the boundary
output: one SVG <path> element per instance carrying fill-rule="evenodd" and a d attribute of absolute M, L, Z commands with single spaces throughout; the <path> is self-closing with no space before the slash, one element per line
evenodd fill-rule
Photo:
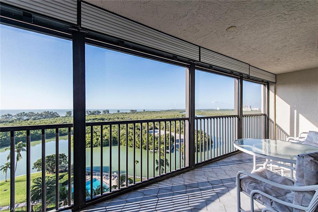
<path fill-rule="evenodd" d="M 318 190 L 318 185 L 312 185 L 312 186 L 286 186 L 286 185 L 283 185 L 283 184 L 279 184 L 279 183 L 275 183 L 275 182 L 272 182 L 268 179 L 265 179 L 265 178 L 262 178 L 262 177 L 259 177 L 258 175 L 256 174 L 252 174 L 252 173 L 249 173 L 249 172 L 245 172 L 245 171 L 239 171 L 237 174 L 236 174 L 236 180 L 237 182 L 239 182 L 239 177 L 241 174 L 245 174 L 251 178 L 254 178 L 254 179 L 258 179 L 264 183 L 267 183 L 269 185 L 272 185 L 272 186 L 275 186 L 275 187 L 278 187 L 278 188 L 282 188 L 282 189 L 286 189 L 286 190 L 290 190 L 290 191 L 316 191 Z"/>

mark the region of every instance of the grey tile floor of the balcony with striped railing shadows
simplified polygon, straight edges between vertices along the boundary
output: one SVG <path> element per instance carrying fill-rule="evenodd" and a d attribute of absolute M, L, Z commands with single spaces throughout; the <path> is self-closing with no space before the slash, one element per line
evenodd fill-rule
<path fill-rule="evenodd" d="M 87 207 L 82 212 L 236 212 L 235 178 L 238 170 L 252 171 L 251 155 L 239 152 L 217 162 Z M 258 163 L 265 160 L 258 158 Z M 241 194 L 250 211 L 250 198 Z M 255 203 L 254 209 L 264 206 Z"/>

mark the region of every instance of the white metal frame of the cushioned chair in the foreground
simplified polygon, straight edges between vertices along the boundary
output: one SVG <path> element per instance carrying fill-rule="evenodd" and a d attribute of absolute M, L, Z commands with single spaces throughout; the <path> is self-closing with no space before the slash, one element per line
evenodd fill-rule
<path fill-rule="evenodd" d="M 264 168 L 266 168 L 267 164 L 270 164 L 270 163 L 276 163 L 276 162 L 273 162 L 273 161 L 265 162 Z M 280 165 L 282 165 L 282 164 L 280 164 Z M 289 168 L 289 166 L 286 166 L 286 168 Z M 300 191 L 300 192 L 315 191 L 315 194 L 313 196 L 313 199 L 310 201 L 308 207 L 304 207 L 304 206 L 301 206 L 301 205 L 296 205 L 296 204 L 293 204 L 293 203 L 290 203 L 290 202 L 285 202 L 285 201 L 279 200 L 279 199 L 277 199 L 277 198 L 275 198 L 275 197 L 273 197 L 273 196 L 271 196 L 269 194 L 266 194 L 266 193 L 264 193 L 264 192 L 262 192 L 260 190 L 252 190 L 251 194 L 248 194 L 247 192 L 241 190 L 240 175 L 242 175 L 242 174 L 245 174 L 245 175 L 247 175 L 249 177 L 252 177 L 254 179 L 258 179 L 258 180 L 260 180 L 262 182 L 265 182 L 265 183 L 267 183 L 269 185 L 272 185 L 272 186 L 275 186 L 275 187 L 278 187 L 278 188 L 286 189 L 286 190 L 289 190 L 289 191 Z M 294 181 L 294 179 L 292 179 L 292 180 Z M 286 186 L 286 185 L 275 183 L 275 182 L 272 182 L 272 181 L 270 181 L 268 179 L 259 177 L 256 174 L 252 174 L 252 173 L 245 172 L 245 171 L 240 171 L 236 175 L 236 187 L 237 187 L 237 211 L 238 212 L 245 212 L 245 210 L 241 208 L 241 202 L 240 202 L 241 201 L 241 199 L 240 199 L 241 192 L 251 197 L 251 212 L 254 211 L 254 199 L 256 201 L 258 201 L 259 203 L 261 203 L 262 205 L 266 206 L 266 208 L 264 208 L 262 210 L 262 212 L 266 212 L 266 211 L 278 212 L 278 211 L 274 210 L 273 208 L 271 208 L 269 205 L 266 205 L 264 202 L 254 198 L 255 194 L 261 194 L 261 195 L 266 196 L 267 198 L 269 198 L 269 199 L 271 199 L 273 201 L 276 201 L 276 202 L 278 202 L 278 203 L 280 203 L 282 205 L 286 205 L 286 206 L 291 207 L 291 208 L 300 209 L 300 210 L 303 210 L 305 212 L 314 212 L 315 209 L 318 206 L 318 185 L 312 185 L 312 186 Z"/>

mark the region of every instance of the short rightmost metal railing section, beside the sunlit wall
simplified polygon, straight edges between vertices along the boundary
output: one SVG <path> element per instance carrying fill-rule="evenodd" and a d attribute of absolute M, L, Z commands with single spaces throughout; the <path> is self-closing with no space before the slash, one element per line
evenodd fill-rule
<path fill-rule="evenodd" d="M 265 125 L 265 113 L 243 115 L 243 138 L 265 138 Z"/>

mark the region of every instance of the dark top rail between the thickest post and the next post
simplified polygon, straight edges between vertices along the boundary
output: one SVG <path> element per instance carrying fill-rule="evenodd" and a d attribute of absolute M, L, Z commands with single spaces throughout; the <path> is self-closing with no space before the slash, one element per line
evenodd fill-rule
<path fill-rule="evenodd" d="M 88 126 L 100 126 L 100 125 L 115 125 L 115 124 L 162 122 L 162 121 L 183 121 L 183 120 L 189 120 L 189 118 L 143 119 L 143 120 L 141 119 L 141 120 L 123 120 L 123 121 L 86 122 L 86 127 L 88 127 Z"/>

